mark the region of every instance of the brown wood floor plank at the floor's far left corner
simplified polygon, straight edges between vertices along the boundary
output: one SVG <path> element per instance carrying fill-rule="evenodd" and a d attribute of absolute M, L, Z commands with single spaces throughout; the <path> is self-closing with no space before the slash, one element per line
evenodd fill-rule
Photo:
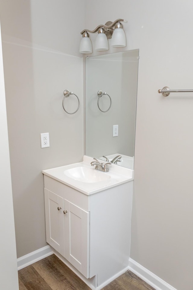
<path fill-rule="evenodd" d="M 27 290 L 53 290 L 32 265 L 19 270 L 18 276 Z"/>

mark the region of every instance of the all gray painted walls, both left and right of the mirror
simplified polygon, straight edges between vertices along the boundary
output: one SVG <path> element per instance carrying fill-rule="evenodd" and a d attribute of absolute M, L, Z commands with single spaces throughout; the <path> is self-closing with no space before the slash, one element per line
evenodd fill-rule
<path fill-rule="evenodd" d="M 46 245 L 41 170 L 78 162 L 84 153 L 83 107 L 71 118 L 61 106 L 64 89 L 82 90 L 79 33 L 121 17 L 128 20 L 125 49 L 140 50 L 131 258 L 178 290 L 191 290 L 193 97 L 163 98 L 157 90 L 192 89 L 193 3 L 49 4 L 0 1 L 18 257 Z M 44 132 L 50 147 L 41 149 Z"/>

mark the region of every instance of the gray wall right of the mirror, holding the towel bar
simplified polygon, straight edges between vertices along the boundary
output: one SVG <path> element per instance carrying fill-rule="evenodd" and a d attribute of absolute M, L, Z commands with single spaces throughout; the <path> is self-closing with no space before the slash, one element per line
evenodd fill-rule
<path fill-rule="evenodd" d="M 192 290 L 193 94 L 157 91 L 193 89 L 193 2 L 86 4 L 86 27 L 124 18 L 125 49 L 139 48 L 131 258 L 178 290 Z"/>

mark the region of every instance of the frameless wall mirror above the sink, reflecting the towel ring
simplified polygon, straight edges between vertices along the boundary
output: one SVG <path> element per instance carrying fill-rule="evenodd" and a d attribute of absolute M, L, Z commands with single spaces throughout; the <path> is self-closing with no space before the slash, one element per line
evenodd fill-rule
<path fill-rule="evenodd" d="M 136 49 L 86 58 L 86 155 L 102 160 L 106 156 L 109 161 L 114 159 L 113 163 L 131 169 L 134 168 L 138 56 Z M 106 94 L 99 97 L 98 91 Z M 113 125 L 118 125 L 114 129 L 115 137 Z M 121 158 L 115 160 L 119 155 Z"/>

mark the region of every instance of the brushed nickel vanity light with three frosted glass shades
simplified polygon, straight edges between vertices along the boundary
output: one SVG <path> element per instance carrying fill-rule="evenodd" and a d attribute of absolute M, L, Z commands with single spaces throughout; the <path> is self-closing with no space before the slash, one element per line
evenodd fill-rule
<path fill-rule="evenodd" d="M 80 53 L 90 54 L 92 50 L 92 42 L 90 40 L 90 33 L 98 32 L 95 41 L 95 50 L 104 51 L 109 49 L 108 39 L 112 38 L 112 47 L 125 47 L 126 36 L 121 22 L 127 23 L 124 19 L 117 19 L 114 22 L 107 21 L 105 25 L 98 25 L 94 30 L 84 29 L 81 31 L 82 40 L 80 43 Z"/>

